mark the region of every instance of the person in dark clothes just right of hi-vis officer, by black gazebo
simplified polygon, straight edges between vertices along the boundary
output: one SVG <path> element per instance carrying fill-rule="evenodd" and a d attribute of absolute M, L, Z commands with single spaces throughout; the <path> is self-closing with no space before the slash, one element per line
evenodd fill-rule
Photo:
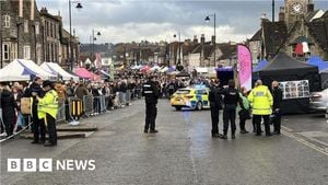
<path fill-rule="evenodd" d="M 273 132 L 272 135 L 280 135 L 280 126 L 281 126 L 281 102 L 282 102 L 282 91 L 279 88 L 279 82 L 273 81 L 272 82 L 272 96 L 273 96 L 273 106 L 272 106 L 272 112 L 273 112 Z"/>

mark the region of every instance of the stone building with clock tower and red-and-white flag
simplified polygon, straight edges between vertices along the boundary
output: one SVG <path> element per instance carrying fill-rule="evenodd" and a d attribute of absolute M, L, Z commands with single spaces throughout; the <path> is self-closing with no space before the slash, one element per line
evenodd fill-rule
<path fill-rule="evenodd" d="M 285 0 L 278 22 L 261 18 L 261 27 L 248 42 L 253 60 L 271 59 L 279 51 L 305 61 L 316 55 L 328 60 L 328 11 L 313 0 Z"/>

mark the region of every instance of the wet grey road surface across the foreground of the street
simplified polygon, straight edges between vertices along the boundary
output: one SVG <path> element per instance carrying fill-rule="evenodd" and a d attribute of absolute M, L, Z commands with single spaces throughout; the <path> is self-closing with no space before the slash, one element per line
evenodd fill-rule
<path fill-rule="evenodd" d="M 280 136 L 211 138 L 209 111 L 176 112 L 159 102 L 159 134 L 143 134 L 144 103 L 85 119 L 97 127 L 86 138 L 54 148 L 12 139 L 1 144 L 1 184 L 98 185 L 325 185 L 327 124 L 313 115 L 284 116 Z M 314 124 L 315 123 L 315 124 Z M 251 130 L 250 122 L 247 129 Z M 311 128 L 311 129 L 309 129 Z M 220 131 L 222 119 L 220 119 Z M 312 131 L 312 132 L 308 132 Z M 95 160 L 94 171 L 8 172 L 9 158 Z"/>

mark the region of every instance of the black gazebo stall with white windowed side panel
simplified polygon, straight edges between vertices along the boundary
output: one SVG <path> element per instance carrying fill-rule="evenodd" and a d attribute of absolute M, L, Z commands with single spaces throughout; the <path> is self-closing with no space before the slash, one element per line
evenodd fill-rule
<path fill-rule="evenodd" d="M 281 111 L 284 114 L 308 112 L 309 93 L 320 90 L 318 67 L 311 66 L 279 53 L 273 60 L 259 70 L 263 84 L 271 86 L 277 80 L 283 91 Z"/>

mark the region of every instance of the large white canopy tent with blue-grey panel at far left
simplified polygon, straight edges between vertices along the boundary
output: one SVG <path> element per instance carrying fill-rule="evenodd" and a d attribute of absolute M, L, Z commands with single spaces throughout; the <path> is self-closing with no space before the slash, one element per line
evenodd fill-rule
<path fill-rule="evenodd" d="M 45 71 L 32 60 L 15 59 L 0 70 L 0 81 L 26 81 L 31 76 L 43 80 L 56 79 L 56 76 Z"/>

